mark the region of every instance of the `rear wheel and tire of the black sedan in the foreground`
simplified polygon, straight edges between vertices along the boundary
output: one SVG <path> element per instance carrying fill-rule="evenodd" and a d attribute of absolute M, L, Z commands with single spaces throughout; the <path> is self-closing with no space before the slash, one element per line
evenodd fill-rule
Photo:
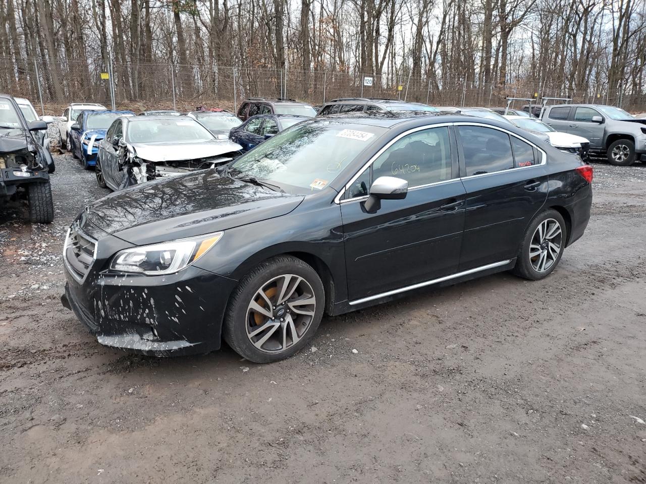
<path fill-rule="evenodd" d="M 557 230 L 556 225 L 560 231 Z M 551 233 L 552 230 L 554 230 L 554 234 Z M 563 256 L 565 241 L 567 241 L 567 227 L 563 216 L 552 208 L 541 212 L 527 227 L 512 272 L 516 276 L 532 281 L 549 276 Z M 541 270 L 544 258 L 545 264 Z"/>

